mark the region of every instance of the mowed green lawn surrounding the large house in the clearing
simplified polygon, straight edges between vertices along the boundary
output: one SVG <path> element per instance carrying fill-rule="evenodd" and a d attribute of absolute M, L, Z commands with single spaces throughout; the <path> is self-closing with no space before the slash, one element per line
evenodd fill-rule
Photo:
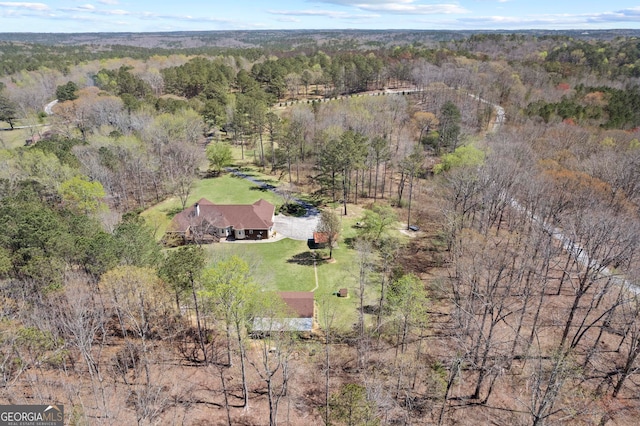
<path fill-rule="evenodd" d="M 270 177 L 255 169 L 243 168 L 243 172 L 265 181 Z M 275 178 L 271 177 L 271 179 L 273 180 L 267 182 L 277 185 Z M 202 197 L 220 204 L 251 204 L 260 198 L 276 206 L 282 204 L 280 197 L 274 193 L 261 190 L 256 184 L 230 174 L 198 181 L 188 199 L 187 206 Z M 159 239 L 164 234 L 171 217 L 181 209 L 180 200 L 174 197 L 146 210 L 143 216 L 157 229 Z M 333 250 L 331 262 L 320 259 L 320 253 L 317 253 L 314 267 L 313 253 L 317 251 L 310 250 L 306 241 L 287 238 L 274 242 L 229 242 L 206 245 L 209 264 L 212 266 L 219 259 L 238 255 L 253 266 L 256 271 L 256 281 L 266 290 L 314 291 L 321 325 L 325 310 L 335 312 L 332 326 L 346 332 L 352 329 L 357 321 L 359 304 L 358 271 L 355 269 L 357 266 L 354 262 L 357 253 L 344 242 L 344 238 L 355 235 L 353 224 L 360 219 L 361 209 L 352 210 L 354 213 L 342 219 L 343 232 L 338 246 Z M 339 213 L 338 209 L 336 212 Z M 322 250 L 321 253 L 327 256 L 328 250 Z M 348 298 L 339 298 L 335 295 L 341 288 L 348 289 Z M 367 302 L 374 303 L 376 297 L 376 286 L 371 286 L 367 289 Z"/>

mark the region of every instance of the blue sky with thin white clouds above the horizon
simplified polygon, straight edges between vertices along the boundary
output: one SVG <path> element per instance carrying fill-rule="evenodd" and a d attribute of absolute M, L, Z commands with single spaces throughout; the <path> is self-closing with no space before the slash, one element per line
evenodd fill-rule
<path fill-rule="evenodd" d="M 638 1 L 0 0 L 0 32 L 640 28 Z"/>

